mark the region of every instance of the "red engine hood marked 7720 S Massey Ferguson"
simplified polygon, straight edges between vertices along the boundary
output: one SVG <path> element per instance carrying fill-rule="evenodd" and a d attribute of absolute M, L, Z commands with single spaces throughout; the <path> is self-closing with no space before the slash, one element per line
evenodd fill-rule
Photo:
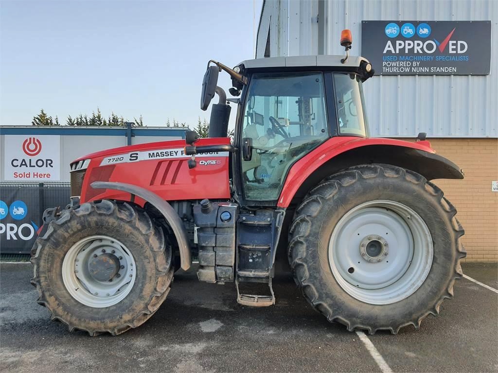
<path fill-rule="evenodd" d="M 230 138 L 200 139 L 195 145 L 225 144 L 230 144 Z M 133 199 L 129 193 L 90 186 L 95 181 L 106 181 L 144 187 L 170 201 L 229 199 L 229 153 L 196 155 L 196 167 L 189 169 L 187 162 L 192 157 L 185 155 L 184 147 L 185 140 L 161 141 L 81 157 L 71 163 L 71 194 L 79 195 L 82 203 L 105 198 Z M 144 203 L 139 198 L 133 201 Z"/>

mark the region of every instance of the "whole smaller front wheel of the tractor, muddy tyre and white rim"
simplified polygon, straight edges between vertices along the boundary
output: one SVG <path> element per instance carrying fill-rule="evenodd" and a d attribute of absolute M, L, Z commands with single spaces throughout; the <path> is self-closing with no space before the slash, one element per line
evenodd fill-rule
<path fill-rule="evenodd" d="M 31 251 L 38 303 L 69 331 L 118 335 L 150 318 L 173 279 L 171 247 L 145 211 L 109 200 L 64 210 Z"/>

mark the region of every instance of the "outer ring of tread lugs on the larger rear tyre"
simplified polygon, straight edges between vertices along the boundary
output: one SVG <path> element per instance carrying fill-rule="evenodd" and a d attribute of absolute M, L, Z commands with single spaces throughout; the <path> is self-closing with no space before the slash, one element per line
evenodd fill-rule
<path fill-rule="evenodd" d="M 322 208 L 323 202 L 330 200 L 340 190 L 340 188 L 350 186 L 357 183 L 360 179 L 368 179 L 378 177 L 380 174 L 387 178 L 404 178 L 405 181 L 413 184 L 421 184 L 425 191 L 427 191 L 433 198 L 436 198 L 440 206 L 443 207 L 447 214 L 447 218 L 451 221 L 453 228 L 453 237 L 455 239 L 455 246 L 457 248 L 456 260 L 454 263 L 454 274 L 447 284 L 446 292 L 432 304 L 428 311 L 409 320 L 402 325 L 391 325 L 389 327 L 375 328 L 370 325 L 364 325 L 354 320 L 348 319 L 341 314 L 340 307 L 331 307 L 323 300 L 323 294 L 317 291 L 313 282 L 309 281 L 310 270 L 308 264 L 304 260 L 309 250 L 306 243 L 306 237 L 311 232 L 312 221 L 317 216 L 319 210 Z M 341 206 L 338 206 L 337 213 L 344 213 L 341 211 Z M 456 208 L 451 202 L 443 195 L 443 191 L 436 187 L 433 183 L 427 181 L 424 177 L 412 171 L 402 169 L 391 165 L 360 165 L 351 167 L 345 171 L 332 175 L 324 179 L 320 184 L 311 189 L 303 199 L 302 203 L 296 209 L 294 220 L 289 229 L 289 246 L 288 257 L 291 269 L 294 273 L 294 279 L 299 287 L 301 287 L 304 297 L 313 306 L 313 308 L 322 313 L 330 322 L 339 322 L 346 325 L 348 331 L 355 329 L 367 330 L 370 334 L 374 334 L 377 330 L 389 330 L 392 334 L 397 334 L 398 331 L 408 325 L 413 325 L 415 328 L 420 327 L 422 320 L 428 315 L 436 316 L 439 314 L 441 303 L 444 299 L 453 297 L 453 286 L 455 280 L 462 278 L 462 268 L 460 260 L 465 258 L 466 251 L 461 242 L 461 237 L 464 235 L 464 229 L 455 217 L 457 213 Z M 315 220 L 316 224 L 316 220 Z M 328 259 L 321 260 L 320 267 L 327 272 L 327 276 L 333 276 Z"/>

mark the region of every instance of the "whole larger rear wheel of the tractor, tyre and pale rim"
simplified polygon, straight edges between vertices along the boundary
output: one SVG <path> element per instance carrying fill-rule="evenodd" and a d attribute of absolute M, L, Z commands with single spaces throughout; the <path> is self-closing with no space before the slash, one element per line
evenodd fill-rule
<path fill-rule="evenodd" d="M 414 172 L 361 165 L 324 180 L 296 210 L 289 262 L 313 307 L 370 334 L 416 328 L 453 297 L 464 230 L 443 192 Z"/>

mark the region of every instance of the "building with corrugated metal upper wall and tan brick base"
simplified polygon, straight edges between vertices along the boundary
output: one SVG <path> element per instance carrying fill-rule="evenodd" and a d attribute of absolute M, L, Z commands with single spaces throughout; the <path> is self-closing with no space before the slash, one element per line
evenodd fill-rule
<path fill-rule="evenodd" d="M 459 211 L 457 217 L 466 229 L 467 260 L 498 261 L 498 1 L 264 0 L 256 58 L 343 55 L 340 36 L 346 28 L 353 34 L 351 54 L 362 55 L 362 49 L 370 48 L 362 48 L 362 39 L 377 37 L 362 35 L 362 29 L 375 21 L 387 26 L 427 22 L 434 27 L 454 21 L 461 22 L 460 33 L 465 33 L 463 25 L 469 21 L 491 27 L 484 37 L 489 48 L 472 56 L 490 66 L 485 74 L 376 74 L 365 83 L 364 93 L 371 136 L 413 141 L 419 132 L 426 132 L 433 148 L 464 170 L 463 181 L 435 183 Z M 483 42 L 472 32 L 464 35 L 469 47 Z M 382 67 L 373 64 L 373 68 Z"/>

